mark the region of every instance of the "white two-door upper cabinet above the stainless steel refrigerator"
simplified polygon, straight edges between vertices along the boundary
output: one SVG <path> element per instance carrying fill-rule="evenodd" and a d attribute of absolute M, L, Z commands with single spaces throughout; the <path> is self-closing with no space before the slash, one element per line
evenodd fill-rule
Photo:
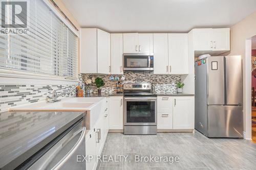
<path fill-rule="evenodd" d="M 193 29 L 195 51 L 229 51 L 230 29 Z M 210 53 L 211 54 L 211 53 Z M 212 53 L 217 54 L 217 53 Z"/>

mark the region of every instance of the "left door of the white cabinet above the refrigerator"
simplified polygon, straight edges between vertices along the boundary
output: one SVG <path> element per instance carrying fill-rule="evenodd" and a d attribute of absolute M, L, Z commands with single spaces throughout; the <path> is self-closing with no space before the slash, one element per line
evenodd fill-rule
<path fill-rule="evenodd" d="M 212 29 L 194 29 L 193 30 L 193 41 L 195 51 L 211 51 L 213 42 L 211 39 Z"/>

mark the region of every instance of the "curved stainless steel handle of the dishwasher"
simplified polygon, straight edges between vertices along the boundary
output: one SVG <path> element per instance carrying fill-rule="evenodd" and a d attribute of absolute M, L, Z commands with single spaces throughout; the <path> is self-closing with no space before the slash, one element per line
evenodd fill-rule
<path fill-rule="evenodd" d="M 78 149 L 79 145 L 82 143 L 82 141 L 85 140 L 86 136 L 86 127 L 83 127 L 79 130 L 79 132 L 82 131 L 81 136 L 77 140 L 74 147 L 69 151 L 67 155 L 65 155 L 51 170 L 58 170 L 61 168 L 61 166 L 74 154 L 74 152 Z M 76 133 L 76 135 L 79 133 Z"/>

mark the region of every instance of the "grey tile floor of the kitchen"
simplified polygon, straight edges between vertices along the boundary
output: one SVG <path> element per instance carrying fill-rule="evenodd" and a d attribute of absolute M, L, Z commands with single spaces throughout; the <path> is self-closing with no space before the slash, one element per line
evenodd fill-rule
<path fill-rule="evenodd" d="M 109 133 L 103 155 L 128 156 L 100 162 L 99 170 L 167 170 L 167 169 L 256 169 L 256 143 L 244 139 L 207 138 L 199 132 L 158 133 L 157 135 L 123 135 Z M 135 161 L 135 156 L 156 156 L 162 161 Z M 169 162 L 164 158 L 170 158 Z M 179 161 L 172 162 L 172 158 Z M 111 159 L 111 160 L 112 160 Z M 138 160 L 138 159 L 136 159 Z M 116 161 L 116 162 L 115 162 Z"/>

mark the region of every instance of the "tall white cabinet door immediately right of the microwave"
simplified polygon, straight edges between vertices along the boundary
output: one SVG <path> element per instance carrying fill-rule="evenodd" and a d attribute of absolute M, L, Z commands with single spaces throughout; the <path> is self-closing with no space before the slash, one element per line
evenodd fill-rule
<path fill-rule="evenodd" d="M 168 34 L 154 34 L 154 74 L 168 74 Z"/>

